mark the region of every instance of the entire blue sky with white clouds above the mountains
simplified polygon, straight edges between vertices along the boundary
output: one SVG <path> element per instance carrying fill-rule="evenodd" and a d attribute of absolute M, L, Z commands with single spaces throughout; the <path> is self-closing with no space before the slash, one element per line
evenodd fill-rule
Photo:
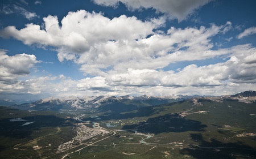
<path fill-rule="evenodd" d="M 2 0 L 0 100 L 256 91 L 256 1 Z"/>

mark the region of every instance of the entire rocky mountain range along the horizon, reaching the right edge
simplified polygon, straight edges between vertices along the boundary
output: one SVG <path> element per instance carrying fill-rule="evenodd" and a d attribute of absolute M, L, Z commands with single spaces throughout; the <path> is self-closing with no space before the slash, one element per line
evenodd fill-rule
<path fill-rule="evenodd" d="M 182 95 L 172 95 L 172 96 L 85 96 L 85 97 L 62 97 L 54 98 L 49 97 L 35 102 L 25 103 L 25 104 L 15 104 L 11 108 L 21 109 L 21 110 L 53 110 L 53 111 L 70 111 L 70 110 L 81 110 L 81 109 L 93 109 L 90 111 L 102 111 L 102 112 L 112 112 L 121 113 L 123 111 L 132 111 L 138 108 L 143 108 L 146 106 L 161 105 L 171 102 L 184 101 L 188 99 L 196 98 L 207 98 L 212 101 L 222 101 L 223 99 L 238 100 L 245 103 L 253 103 L 256 101 L 255 91 L 245 91 L 232 96 L 182 96 Z M 200 102 L 195 101 L 198 105 Z"/>

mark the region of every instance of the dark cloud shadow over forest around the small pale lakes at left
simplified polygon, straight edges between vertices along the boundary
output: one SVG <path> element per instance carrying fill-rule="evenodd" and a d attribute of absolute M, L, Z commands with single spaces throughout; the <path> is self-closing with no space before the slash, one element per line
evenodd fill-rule
<path fill-rule="evenodd" d="M 55 115 L 35 115 L 22 118 L 26 121 L 15 122 L 11 122 L 10 119 L 13 118 L 0 119 L 0 136 L 23 139 L 31 136 L 34 130 L 38 130 L 41 127 L 58 127 L 71 125 L 71 123 L 65 122 L 67 119 L 59 118 Z M 27 122 L 34 123 L 23 125 Z"/>

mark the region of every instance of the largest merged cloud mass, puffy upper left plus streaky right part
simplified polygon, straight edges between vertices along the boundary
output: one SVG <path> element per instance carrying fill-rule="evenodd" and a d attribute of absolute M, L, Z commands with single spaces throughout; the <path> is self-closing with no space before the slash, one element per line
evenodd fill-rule
<path fill-rule="evenodd" d="M 210 50 L 210 40 L 227 32 L 232 24 L 212 25 L 209 28 L 170 28 L 167 33 L 157 29 L 163 18 L 142 22 L 125 15 L 109 19 L 101 13 L 80 10 L 69 12 L 61 20 L 56 16 L 43 18 L 45 28 L 27 24 L 23 29 L 9 26 L 0 32 L 2 37 L 14 37 L 24 44 L 53 46 L 61 62 L 71 60 L 80 70 L 94 76 L 106 76 L 114 70 L 157 69 L 177 61 L 192 61 L 222 55 Z M 153 31 L 155 30 L 156 31 Z"/>

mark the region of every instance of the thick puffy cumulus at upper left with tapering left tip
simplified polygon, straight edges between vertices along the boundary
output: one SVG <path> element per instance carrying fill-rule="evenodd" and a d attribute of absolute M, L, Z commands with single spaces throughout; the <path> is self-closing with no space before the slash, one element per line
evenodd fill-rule
<path fill-rule="evenodd" d="M 101 13 L 89 13 L 84 10 L 69 12 L 61 20 L 62 27 L 56 16 L 44 18 L 45 30 L 39 25 L 27 24 L 26 28 L 17 30 L 13 26 L 5 28 L 1 32 L 2 37 L 14 37 L 24 44 L 38 44 L 41 46 L 55 46 L 59 51 L 60 61 L 64 59 L 75 60 L 72 54 L 86 53 L 102 42 L 109 40 L 131 41 L 146 37 L 157 28 L 154 22 L 142 22 L 135 17 L 122 15 L 109 19 Z M 97 58 L 97 54 L 88 54 L 90 59 Z"/>

